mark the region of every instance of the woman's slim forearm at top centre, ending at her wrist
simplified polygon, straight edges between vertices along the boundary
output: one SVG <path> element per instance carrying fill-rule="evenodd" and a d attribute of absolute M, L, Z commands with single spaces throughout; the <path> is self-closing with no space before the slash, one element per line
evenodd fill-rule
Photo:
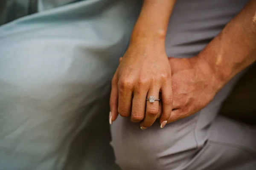
<path fill-rule="evenodd" d="M 155 43 L 164 46 L 174 5 L 175 0 L 144 0 L 130 43 Z"/>

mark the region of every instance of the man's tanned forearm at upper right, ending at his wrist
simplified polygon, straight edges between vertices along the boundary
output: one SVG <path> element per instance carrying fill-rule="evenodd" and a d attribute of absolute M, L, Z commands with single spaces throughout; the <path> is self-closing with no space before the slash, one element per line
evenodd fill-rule
<path fill-rule="evenodd" d="M 220 85 L 252 64 L 256 60 L 256 1 L 251 0 L 198 56 L 207 60 Z"/>

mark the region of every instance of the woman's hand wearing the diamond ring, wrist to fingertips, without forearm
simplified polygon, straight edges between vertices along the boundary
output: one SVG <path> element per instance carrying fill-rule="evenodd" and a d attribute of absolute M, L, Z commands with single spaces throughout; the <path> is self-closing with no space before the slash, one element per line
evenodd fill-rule
<path fill-rule="evenodd" d="M 142 121 L 142 129 L 150 127 L 160 114 L 159 101 L 146 101 L 150 96 L 163 103 L 160 123 L 164 127 L 172 112 L 171 67 L 165 48 L 154 42 L 130 45 L 112 80 L 110 123 L 119 113 L 131 116 L 132 122 Z"/>

